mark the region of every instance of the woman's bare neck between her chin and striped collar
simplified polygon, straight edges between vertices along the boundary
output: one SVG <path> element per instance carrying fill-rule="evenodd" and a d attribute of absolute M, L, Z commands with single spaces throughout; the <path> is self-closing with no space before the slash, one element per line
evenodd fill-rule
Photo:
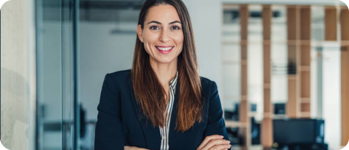
<path fill-rule="evenodd" d="M 177 58 L 170 63 L 159 63 L 151 58 L 149 61 L 150 66 L 153 68 L 160 84 L 164 88 L 168 88 L 171 80 L 173 80 L 177 74 Z"/>

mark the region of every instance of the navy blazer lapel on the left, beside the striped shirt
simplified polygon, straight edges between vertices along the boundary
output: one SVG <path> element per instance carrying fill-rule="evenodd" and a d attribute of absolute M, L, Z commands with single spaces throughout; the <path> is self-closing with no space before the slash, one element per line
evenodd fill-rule
<path fill-rule="evenodd" d="M 134 96 L 131 77 L 129 78 L 128 85 L 129 85 L 128 88 L 129 88 L 129 93 L 130 93 L 131 101 L 133 104 L 134 112 L 136 113 L 137 119 L 139 121 L 139 125 L 143 130 L 143 136 L 147 144 L 147 149 L 160 149 L 161 135 L 160 135 L 159 127 L 154 128 L 153 123 L 151 123 L 151 121 L 144 116 L 143 112 L 142 111 L 139 112 L 140 106 L 136 102 L 136 99 Z"/>

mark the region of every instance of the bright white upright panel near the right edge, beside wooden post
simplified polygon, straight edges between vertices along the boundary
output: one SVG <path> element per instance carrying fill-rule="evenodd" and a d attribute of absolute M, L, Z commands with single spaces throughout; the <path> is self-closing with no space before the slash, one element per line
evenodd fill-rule
<path fill-rule="evenodd" d="M 322 112 L 325 120 L 325 142 L 330 149 L 341 145 L 340 46 L 325 47 L 322 85 Z"/>

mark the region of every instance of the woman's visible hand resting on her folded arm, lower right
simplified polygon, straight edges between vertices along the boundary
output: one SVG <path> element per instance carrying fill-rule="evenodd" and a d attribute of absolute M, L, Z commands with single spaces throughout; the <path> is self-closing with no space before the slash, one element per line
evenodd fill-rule
<path fill-rule="evenodd" d="M 210 135 L 205 137 L 196 150 L 227 150 L 231 147 L 229 143 L 221 135 Z"/>

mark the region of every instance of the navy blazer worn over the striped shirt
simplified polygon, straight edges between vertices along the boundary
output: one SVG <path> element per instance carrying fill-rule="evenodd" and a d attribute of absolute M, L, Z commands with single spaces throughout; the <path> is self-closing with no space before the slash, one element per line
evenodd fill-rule
<path fill-rule="evenodd" d="M 123 150 L 124 145 L 160 150 L 159 127 L 154 128 L 149 119 L 139 114 L 140 106 L 135 101 L 130 73 L 131 70 L 122 70 L 105 75 L 97 107 L 95 150 Z M 177 132 L 174 129 L 178 96 L 176 88 L 168 137 L 169 150 L 196 150 L 206 136 L 214 134 L 223 135 L 225 140 L 229 140 L 217 85 L 205 77 L 200 77 L 200 80 L 206 115 L 203 121 L 195 122 L 184 133 Z"/>

